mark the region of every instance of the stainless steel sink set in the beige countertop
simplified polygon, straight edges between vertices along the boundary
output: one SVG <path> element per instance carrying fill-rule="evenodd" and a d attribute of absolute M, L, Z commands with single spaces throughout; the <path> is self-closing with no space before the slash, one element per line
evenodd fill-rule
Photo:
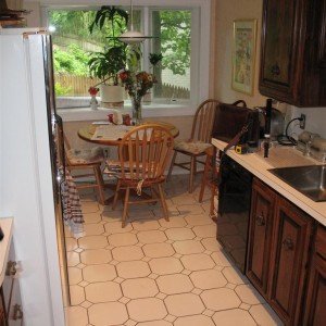
<path fill-rule="evenodd" d="M 326 165 L 271 168 L 269 172 L 313 201 L 326 201 Z"/>

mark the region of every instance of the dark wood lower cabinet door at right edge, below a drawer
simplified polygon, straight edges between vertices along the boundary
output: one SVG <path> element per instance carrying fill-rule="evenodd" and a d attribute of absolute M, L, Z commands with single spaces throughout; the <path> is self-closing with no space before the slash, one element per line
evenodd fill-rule
<path fill-rule="evenodd" d="M 309 277 L 304 325 L 324 326 L 326 321 L 326 261 L 314 254 Z"/>

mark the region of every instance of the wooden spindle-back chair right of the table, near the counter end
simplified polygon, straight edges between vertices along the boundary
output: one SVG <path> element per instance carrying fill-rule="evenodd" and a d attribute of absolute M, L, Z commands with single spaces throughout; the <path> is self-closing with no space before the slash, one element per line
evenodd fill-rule
<path fill-rule="evenodd" d="M 174 165 L 190 172 L 188 191 L 193 191 L 193 179 L 197 174 L 197 163 L 204 164 L 199 160 L 205 155 L 205 150 L 212 147 L 212 128 L 214 124 L 216 105 L 220 102 L 209 99 L 202 102 L 195 114 L 192 128 L 189 140 L 176 141 L 174 147 L 174 155 L 170 165 L 167 179 L 172 175 Z M 176 163 L 177 154 L 181 153 L 190 158 L 190 161 Z"/>

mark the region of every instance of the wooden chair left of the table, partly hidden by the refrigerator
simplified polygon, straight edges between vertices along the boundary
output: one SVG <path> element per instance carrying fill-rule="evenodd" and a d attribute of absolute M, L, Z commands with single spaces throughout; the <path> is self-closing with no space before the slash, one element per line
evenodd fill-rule
<path fill-rule="evenodd" d="M 104 181 L 101 171 L 101 165 L 104 162 L 104 153 L 102 148 L 95 147 L 90 150 L 72 149 L 66 136 L 64 135 L 63 137 L 66 167 L 71 172 L 77 172 L 73 175 L 75 180 L 83 181 L 80 184 L 76 183 L 77 189 L 96 188 L 99 196 L 99 202 L 104 204 Z M 78 173 L 78 171 L 82 171 L 82 173 Z M 88 179 L 90 177 L 93 180 L 89 181 Z M 85 180 L 85 178 L 87 178 L 87 180 Z"/>

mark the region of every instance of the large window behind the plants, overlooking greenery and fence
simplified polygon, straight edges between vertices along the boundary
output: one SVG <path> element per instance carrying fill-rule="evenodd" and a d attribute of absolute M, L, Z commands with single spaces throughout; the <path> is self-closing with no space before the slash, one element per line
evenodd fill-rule
<path fill-rule="evenodd" d="M 175 8 L 176 4 L 171 1 L 168 7 L 164 7 L 162 1 L 152 2 L 149 7 L 134 8 L 135 29 L 154 36 L 141 43 L 141 68 L 152 71 L 159 82 L 152 91 L 151 106 L 158 103 L 158 108 L 165 105 L 168 109 L 171 105 L 178 110 L 193 110 L 208 96 L 209 1 L 179 0 L 179 5 L 184 8 Z M 155 7 L 159 3 L 160 7 Z M 91 53 L 105 50 L 110 26 L 102 30 L 95 28 L 90 34 L 89 25 L 97 10 L 73 7 L 49 7 L 45 10 L 48 25 L 55 27 L 52 40 L 59 109 L 89 108 L 88 88 L 100 82 L 90 78 L 88 61 Z M 126 28 L 124 22 L 120 24 L 122 30 Z M 199 51 L 201 46 L 208 51 Z M 149 63 L 151 53 L 163 55 L 155 66 Z"/>

